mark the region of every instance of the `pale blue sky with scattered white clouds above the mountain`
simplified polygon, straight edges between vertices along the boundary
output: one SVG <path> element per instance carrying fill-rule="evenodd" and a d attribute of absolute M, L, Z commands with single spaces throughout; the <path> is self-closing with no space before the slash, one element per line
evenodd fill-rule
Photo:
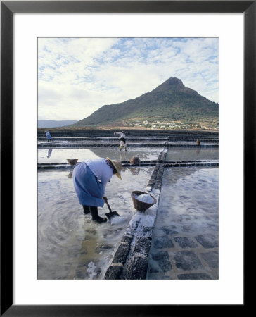
<path fill-rule="evenodd" d="M 170 77 L 218 102 L 218 39 L 39 38 L 38 119 L 82 120 Z"/>

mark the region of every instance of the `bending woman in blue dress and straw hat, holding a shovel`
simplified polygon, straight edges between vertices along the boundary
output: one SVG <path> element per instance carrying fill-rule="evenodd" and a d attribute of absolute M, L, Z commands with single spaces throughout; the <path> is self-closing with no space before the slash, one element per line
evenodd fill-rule
<path fill-rule="evenodd" d="M 103 207 L 106 197 L 105 187 L 117 175 L 121 178 L 122 163 L 107 159 L 87 159 L 75 166 L 73 182 L 79 203 L 83 206 L 84 214 L 91 213 L 92 220 L 105 223 L 107 218 L 98 216 L 98 207 Z"/>

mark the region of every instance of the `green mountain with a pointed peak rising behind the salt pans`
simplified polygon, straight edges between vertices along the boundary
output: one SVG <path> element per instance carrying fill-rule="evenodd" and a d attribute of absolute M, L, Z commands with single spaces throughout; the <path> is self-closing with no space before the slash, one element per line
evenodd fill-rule
<path fill-rule="evenodd" d="M 169 78 L 152 92 L 120 104 L 102 106 L 73 126 L 131 126 L 134 120 L 147 125 L 155 120 L 165 120 L 211 128 L 210 125 L 218 124 L 218 116 L 218 104 L 185 87 L 181 80 Z"/>

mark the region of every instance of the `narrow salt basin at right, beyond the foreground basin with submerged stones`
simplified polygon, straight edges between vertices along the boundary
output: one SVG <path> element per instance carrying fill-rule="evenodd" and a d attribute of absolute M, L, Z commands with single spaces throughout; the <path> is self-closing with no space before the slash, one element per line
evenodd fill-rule
<path fill-rule="evenodd" d="M 166 161 L 200 161 L 219 159 L 219 149 L 179 148 L 167 149 Z"/>

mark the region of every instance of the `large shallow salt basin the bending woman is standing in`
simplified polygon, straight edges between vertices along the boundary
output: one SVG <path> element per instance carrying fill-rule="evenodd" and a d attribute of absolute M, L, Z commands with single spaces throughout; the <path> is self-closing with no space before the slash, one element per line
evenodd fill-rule
<path fill-rule="evenodd" d="M 144 190 L 153 172 L 148 168 L 123 168 L 115 175 L 106 196 L 120 214 L 121 223 L 94 223 L 79 205 L 70 170 L 38 173 L 38 279 L 100 280 L 134 213 L 131 192 Z M 105 217 L 107 206 L 98 208 Z"/>

